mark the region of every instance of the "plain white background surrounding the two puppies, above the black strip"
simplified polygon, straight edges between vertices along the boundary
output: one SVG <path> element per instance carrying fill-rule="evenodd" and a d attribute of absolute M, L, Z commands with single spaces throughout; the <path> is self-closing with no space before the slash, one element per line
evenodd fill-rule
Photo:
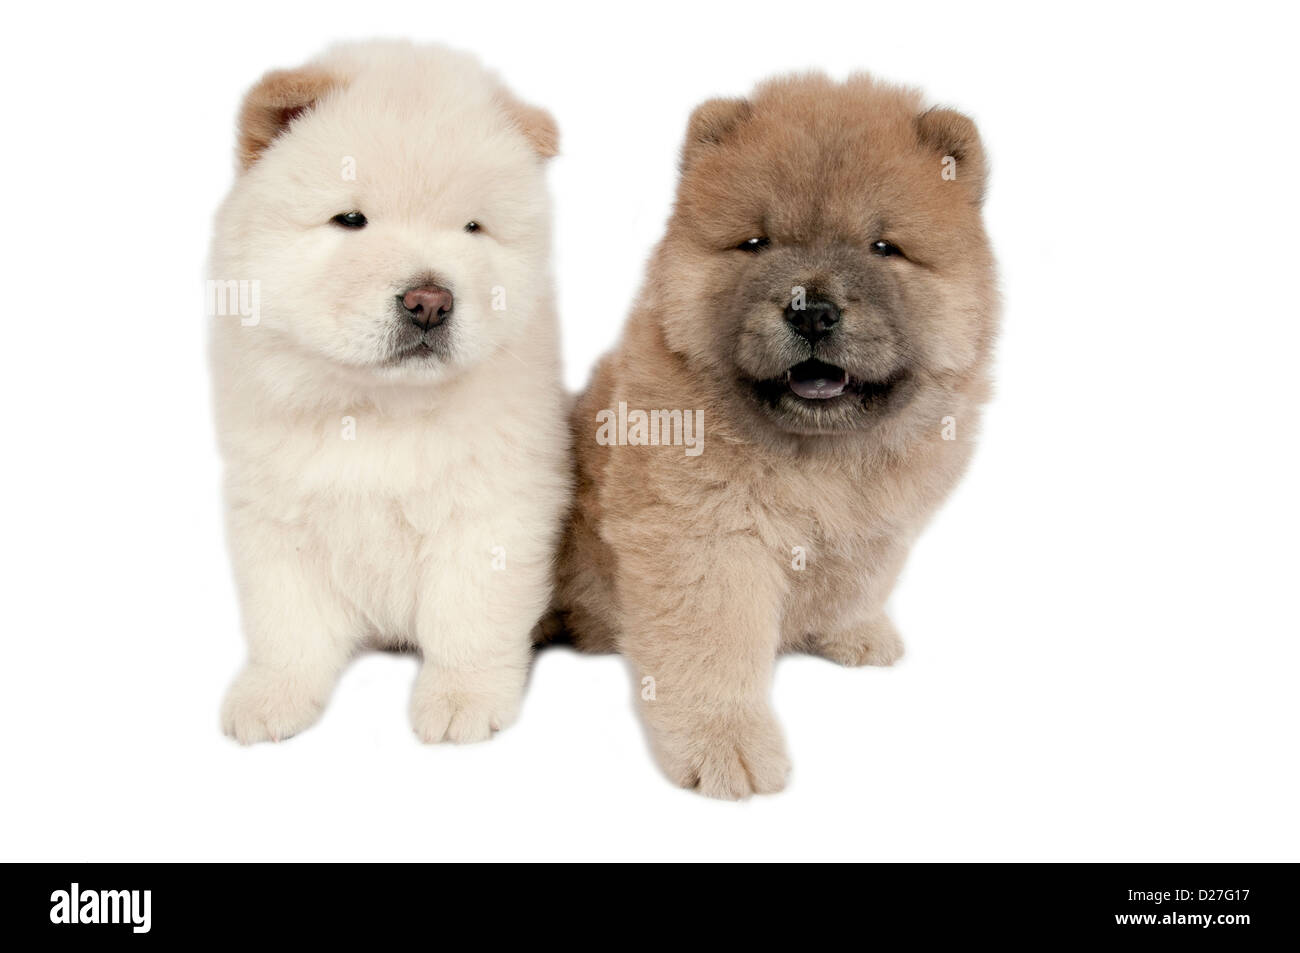
<path fill-rule="evenodd" d="M 1283 4 L 378 0 L 6 10 L 0 858 L 1300 859 L 1300 313 Z M 892 670 L 777 667 L 780 796 L 671 787 L 618 658 L 426 748 L 416 659 L 242 749 L 202 306 L 234 116 L 337 39 L 480 53 L 558 117 L 567 378 L 610 347 L 690 108 L 870 69 L 979 122 L 1006 311 Z"/>

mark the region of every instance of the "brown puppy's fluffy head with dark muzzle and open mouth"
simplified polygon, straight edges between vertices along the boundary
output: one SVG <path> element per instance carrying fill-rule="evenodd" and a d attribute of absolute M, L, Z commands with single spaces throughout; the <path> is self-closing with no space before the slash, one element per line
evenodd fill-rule
<path fill-rule="evenodd" d="M 992 335 L 984 174 L 970 120 L 867 77 L 705 103 L 649 290 L 670 347 L 757 426 L 941 416 Z"/>

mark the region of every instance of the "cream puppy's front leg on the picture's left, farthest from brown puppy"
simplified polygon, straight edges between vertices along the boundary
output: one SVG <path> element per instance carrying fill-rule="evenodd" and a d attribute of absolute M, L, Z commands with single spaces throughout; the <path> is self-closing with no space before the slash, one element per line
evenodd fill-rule
<path fill-rule="evenodd" d="M 324 567 L 276 527 L 233 528 L 248 662 L 226 693 L 221 727 L 240 744 L 281 741 L 311 725 L 358 644 L 351 611 Z"/>

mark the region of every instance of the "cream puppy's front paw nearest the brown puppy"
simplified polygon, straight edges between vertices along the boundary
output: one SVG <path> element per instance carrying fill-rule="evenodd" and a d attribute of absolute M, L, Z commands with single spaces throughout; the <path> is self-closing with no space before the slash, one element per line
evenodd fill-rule
<path fill-rule="evenodd" d="M 521 694 L 514 671 L 439 672 L 425 664 L 411 696 L 411 727 L 430 745 L 486 741 L 515 720 Z"/>

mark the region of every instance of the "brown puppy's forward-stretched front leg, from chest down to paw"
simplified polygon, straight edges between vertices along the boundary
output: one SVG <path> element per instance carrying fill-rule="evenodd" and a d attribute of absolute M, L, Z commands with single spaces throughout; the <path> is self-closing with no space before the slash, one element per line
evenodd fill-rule
<path fill-rule="evenodd" d="M 710 797 L 780 790 L 790 762 L 768 703 L 784 593 L 774 560 L 745 542 L 692 551 L 663 540 L 638 553 L 620 563 L 619 647 L 660 766 Z"/>

